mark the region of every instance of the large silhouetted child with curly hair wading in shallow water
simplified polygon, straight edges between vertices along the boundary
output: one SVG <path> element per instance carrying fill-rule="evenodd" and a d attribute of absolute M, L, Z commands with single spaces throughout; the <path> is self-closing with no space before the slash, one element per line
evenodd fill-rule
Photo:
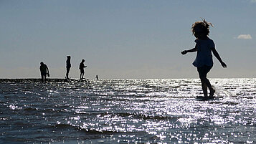
<path fill-rule="evenodd" d="M 209 97 L 214 96 L 215 90 L 212 88 L 211 83 L 207 79 L 207 73 L 212 69 L 213 60 L 212 53 L 222 64 L 222 67 L 227 67 L 227 65 L 222 62 L 219 53 L 215 49 L 215 44 L 212 39 L 209 39 L 209 24 L 205 19 L 202 21 L 196 21 L 192 25 L 192 32 L 194 37 L 196 37 L 196 46 L 193 49 L 184 50 L 181 54 L 186 54 L 188 52 L 197 52 L 196 59 L 193 62 L 194 67 L 197 67 L 197 72 L 199 73 L 200 80 L 202 82 L 202 90 L 204 92 L 204 97 L 207 96 L 207 87 L 209 88 Z"/>

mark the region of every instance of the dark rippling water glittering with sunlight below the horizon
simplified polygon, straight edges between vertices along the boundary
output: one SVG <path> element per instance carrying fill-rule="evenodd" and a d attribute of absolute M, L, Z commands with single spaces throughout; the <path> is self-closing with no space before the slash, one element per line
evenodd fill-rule
<path fill-rule="evenodd" d="M 256 143 L 256 79 L 1 82 L 0 143 Z"/>

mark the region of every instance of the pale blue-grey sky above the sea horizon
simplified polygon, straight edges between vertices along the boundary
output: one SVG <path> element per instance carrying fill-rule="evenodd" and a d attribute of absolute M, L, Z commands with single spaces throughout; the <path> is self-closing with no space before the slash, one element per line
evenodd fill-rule
<path fill-rule="evenodd" d="M 0 78 L 40 77 L 41 61 L 65 77 L 67 55 L 73 78 L 81 59 L 90 79 L 197 78 L 196 53 L 180 52 L 200 17 L 227 63 L 214 58 L 209 77 L 255 77 L 255 14 L 250 0 L 0 0 Z"/>

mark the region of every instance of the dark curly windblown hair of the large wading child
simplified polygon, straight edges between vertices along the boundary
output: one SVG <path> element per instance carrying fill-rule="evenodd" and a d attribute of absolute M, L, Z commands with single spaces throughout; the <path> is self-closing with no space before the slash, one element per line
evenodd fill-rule
<path fill-rule="evenodd" d="M 207 22 L 205 19 L 202 19 L 202 21 L 196 21 L 194 24 L 192 24 L 191 31 L 195 35 L 196 29 L 202 30 L 207 36 L 209 35 L 209 25 L 212 25 L 212 23 Z"/>

